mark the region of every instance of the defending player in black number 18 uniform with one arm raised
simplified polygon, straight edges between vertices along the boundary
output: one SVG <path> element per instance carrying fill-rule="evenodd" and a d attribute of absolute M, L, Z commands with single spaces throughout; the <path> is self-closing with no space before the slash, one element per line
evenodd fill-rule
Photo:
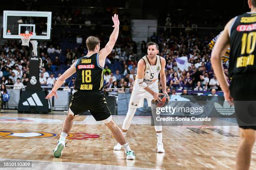
<path fill-rule="evenodd" d="M 60 140 L 53 152 L 56 158 L 59 158 L 62 154 L 62 150 L 65 147 L 65 139 L 72 128 L 74 117 L 90 110 L 95 120 L 104 122 L 111 130 L 118 143 L 121 143 L 125 149 L 126 158 L 128 160 L 135 159 L 135 155 L 126 143 L 122 131 L 112 120 L 110 110 L 105 101 L 105 95 L 101 92 L 103 87 L 103 67 L 105 65 L 105 59 L 112 51 L 119 32 L 118 15 L 115 14 L 112 20 L 114 22 L 114 30 L 110 35 L 107 45 L 100 50 L 100 40 L 97 37 L 88 37 L 86 40 L 86 46 L 88 48 L 87 55 L 79 58 L 77 62 L 74 62 L 74 64 L 59 77 L 49 95 L 46 96 L 47 99 L 53 96 L 57 97 L 56 90 L 58 90 L 68 77 L 77 72 L 75 82 L 76 92 L 73 94 L 72 102 L 69 105 L 69 112 L 62 126 Z"/>

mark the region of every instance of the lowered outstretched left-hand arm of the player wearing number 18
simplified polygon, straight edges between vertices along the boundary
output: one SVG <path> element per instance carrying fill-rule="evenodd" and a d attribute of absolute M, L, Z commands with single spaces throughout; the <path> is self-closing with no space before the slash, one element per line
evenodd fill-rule
<path fill-rule="evenodd" d="M 45 97 L 46 99 L 49 99 L 53 96 L 57 97 L 56 91 L 59 89 L 59 87 L 61 87 L 61 85 L 63 84 L 63 82 L 70 77 L 71 75 L 73 75 L 76 72 L 76 62 L 74 62 L 72 64 L 72 66 L 67 69 L 60 77 L 59 79 L 55 82 L 54 87 L 52 88 L 51 92 Z"/>

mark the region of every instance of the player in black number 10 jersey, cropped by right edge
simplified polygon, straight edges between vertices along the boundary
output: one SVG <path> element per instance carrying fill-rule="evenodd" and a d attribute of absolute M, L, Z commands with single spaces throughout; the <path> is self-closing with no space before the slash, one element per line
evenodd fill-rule
<path fill-rule="evenodd" d="M 256 0 L 248 0 L 251 12 L 231 19 L 212 50 L 212 67 L 224 92 L 225 100 L 235 104 L 241 141 L 236 155 L 236 169 L 250 168 L 256 137 Z M 221 56 L 230 45 L 228 73 L 225 79 Z"/>

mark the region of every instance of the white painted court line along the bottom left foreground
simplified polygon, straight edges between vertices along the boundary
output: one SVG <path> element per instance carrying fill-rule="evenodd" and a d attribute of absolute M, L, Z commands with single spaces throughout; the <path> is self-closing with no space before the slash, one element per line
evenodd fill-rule
<path fill-rule="evenodd" d="M 0 160 L 1 159 L 2 160 L 17 160 L 17 161 L 20 161 L 20 159 L 0 158 Z M 23 161 L 37 161 L 37 162 L 49 162 L 49 163 L 69 163 L 69 162 L 58 162 L 58 161 L 48 161 L 48 160 L 23 160 Z M 128 161 L 130 161 L 130 160 L 128 160 Z M 118 165 L 101 165 L 101 164 L 90 164 L 90 163 L 72 163 L 72 164 L 97 165 L 97 166 L 108 166 L 108 167 L 117 167 L 117 168 L 134 168 L 134 169 L 144 169 L 144 170 L 161 170 L 161 169 L 152 169 L 152 168 L 138 168 L 138 167 L 128 167 L 128 166 L 125 167 L 125 166 L 118 166 Z"/>

